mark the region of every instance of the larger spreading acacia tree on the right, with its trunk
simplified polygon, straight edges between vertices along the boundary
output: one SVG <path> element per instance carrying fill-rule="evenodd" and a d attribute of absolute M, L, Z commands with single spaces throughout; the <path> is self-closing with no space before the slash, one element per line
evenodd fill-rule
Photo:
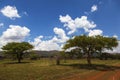
<path fill-rule="evenodd" d="M 93 53 L 102 53 L 104 49 L 112 50 L 113 47 L 118 45 L 117 39 L 114 37 L 103 36 L 75 36 L 69 39 L 64 45 L 63 49 L 71 47 L 79 48 L 82 53 L 87 56 L 87 62 L 91 65 L 91 55 Z"/>

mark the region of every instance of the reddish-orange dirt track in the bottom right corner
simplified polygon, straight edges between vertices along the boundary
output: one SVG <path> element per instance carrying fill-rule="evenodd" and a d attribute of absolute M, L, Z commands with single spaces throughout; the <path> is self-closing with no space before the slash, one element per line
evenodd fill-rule
<path fill-rule="evenodd" d="M 110 70 L 105 71 L 93 71 L 88 74 L 75 74 L 60 80 L 120 80 L 120 64 L 115 65 L 115 70 L 113 69 L 112 74 Z M 106 75 L 108 77 L 106 77 Z M 85 77 L 83 77 L 85 76 Z M 105 79 L 103 79 L 105 78 Z"/>

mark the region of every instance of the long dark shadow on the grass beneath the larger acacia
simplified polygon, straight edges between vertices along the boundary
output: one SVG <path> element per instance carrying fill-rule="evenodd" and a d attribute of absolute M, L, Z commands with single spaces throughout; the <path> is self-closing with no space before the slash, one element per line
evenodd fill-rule
<path fill-rule="evenodd" d="M 99 71 L 113 71 L 113 70 L 118 70 L 120 67 L 118 66 L 108 66 L 104 64 L 61 64 L 61 66 L 71 66 L 73 68 L 78 68 L 78 69 L 88 69 L 88 70 L 99 70 Z"/>

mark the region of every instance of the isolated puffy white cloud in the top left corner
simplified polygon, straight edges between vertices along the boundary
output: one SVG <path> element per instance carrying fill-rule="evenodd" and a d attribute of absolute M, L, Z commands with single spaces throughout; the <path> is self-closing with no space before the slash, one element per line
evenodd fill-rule
<path fill-rule="evenodd" d="M 10 18 L 10 19 L 15 19 L 15 18 L 20 18 L 20 17 L 21 17 L 21 16 L 18 14 L 18 10 L 16 9 L 15 6 L 10 6 L 10 5 L 5 6 L 4 8 L 2 8 L 2 9 L 0 10 L 0 12 L 1 12 L 4 16 L 6 16 L 6 17 L 8 17 L 8 18 Z"/>

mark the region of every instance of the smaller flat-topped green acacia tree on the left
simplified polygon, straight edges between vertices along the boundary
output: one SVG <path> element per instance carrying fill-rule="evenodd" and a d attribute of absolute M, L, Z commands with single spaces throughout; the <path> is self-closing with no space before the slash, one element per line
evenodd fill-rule
<path fill-rule="evenodd" d="M 18 63 L 20 63 L 23 55 L 29 52 L 32 48 L 33 46 L 28 42 L 11 42 L 3 46 L 2 50 L 4 51 L 4 53 L 17 58 Z"/>

